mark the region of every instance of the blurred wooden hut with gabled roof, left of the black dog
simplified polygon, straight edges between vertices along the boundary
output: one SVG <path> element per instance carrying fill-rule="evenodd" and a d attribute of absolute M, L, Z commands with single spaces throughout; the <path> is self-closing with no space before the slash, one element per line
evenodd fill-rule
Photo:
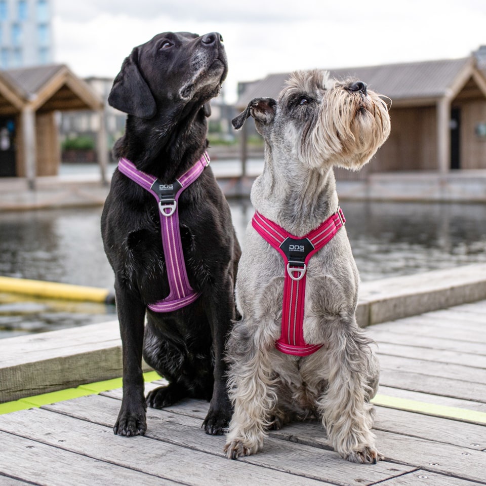
<path fill-rule="evenodd" d="M 65 65 L 0 71 L 0 176 L 26 177 L 33 185 L 36 176 L 57 175 L 56 113 L 83 109 L 103 116 L 101 98 Z M 102 132 L 98 150 L 106 165 Z"/>

